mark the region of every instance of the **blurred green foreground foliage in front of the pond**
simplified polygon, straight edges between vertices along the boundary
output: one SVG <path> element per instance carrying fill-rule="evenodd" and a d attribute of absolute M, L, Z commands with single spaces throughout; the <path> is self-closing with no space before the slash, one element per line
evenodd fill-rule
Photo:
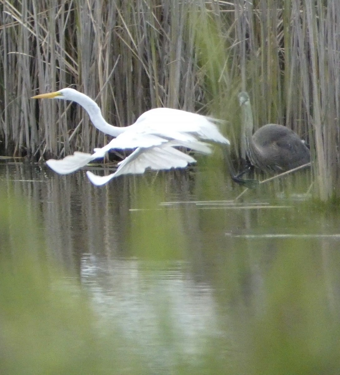
<path fill-rule="evenodd" d="M 118 330 L 103 332 L 81 285 L 50 259 L 25 199 L 8 193 L 1 196 L 0 373 L 157 373 L 140 354 L 141 344 L 128 342 Z M 143 199 L 145 204 L 150 199 L 149 206 L 156 200 L 154 192 L 146 193 Z M 157 251 L 155 260 L 159 260 L 164 241 L 171 242 L 170 237 L 177 239 L 178 246 L 183 245 L 183 234 L 174 233 L 180 228 L 176 229 L 176 217 L 171 219 L 169 211 L 157 211 L 154 216 L 146 211 L 145 215 L 145 220 L 141 217 L 130 228 L 134 236 L 130 246 L 143 244 L 138 257 L 152 260 L 152 251 Z M 172 223 L 171 233 L 164 228 L 148 248 L 148 228 L 162 231 L 157 225 L 161 221 Z M 328 269 L 333 271 L 327 283 L 323 265 L 313 263 L 310 253 L 317 251 L 315 248 L 307 248 L 302 240 L 282 243 L 264 275 L 264 303 L 248 315 L 240 315 L 240 310 L 232 307 L 235 299 L 241 299 L 235 297 L 237 285 L 248 272 L 246 250 L 242 243 L 231 249 L 236 254 L 234 261 L 220 265 L 223 269 L 216 270 L 212 281 L 221 307 L 218 325 L 229 338 L 221 334 L 216 340 L 207 339 L 206 353 L 196 363 L 178 353 L 177 362 L 162 374 L 339 374 L 339 264 Z M 144 255 L 140 254 L 143 249 L 147 252 Z M 169 252 L 169 248 L 166 252 L 165 258 L 182 256 L 180 251 Z M 261 257 L 261 249 L 253 249 L 253 254 Z M 255 305 L 256 298 L 255 294 L 250 296 L 249 305 Z M 164 322 L 164 317 L 157 318 Z M 169 337 L 163 338 L 164 347 L 173 335 L 168 333 Z"/>

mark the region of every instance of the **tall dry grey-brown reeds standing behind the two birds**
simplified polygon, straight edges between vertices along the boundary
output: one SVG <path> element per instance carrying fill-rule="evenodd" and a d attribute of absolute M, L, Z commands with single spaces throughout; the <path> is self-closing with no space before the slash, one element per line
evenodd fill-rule
<path fill-rule="evenodd" d="M 284 124 L 311 145 L 319 198 L 339 198 L 337 0 L 0 0 L 1 154 L 30 160 L 106 142 L 69 102 L 34 101 L 72 86 L 125 126 L 152 107 L 212 112 L 240 141 L 237 93 L 255 129 Z"/>

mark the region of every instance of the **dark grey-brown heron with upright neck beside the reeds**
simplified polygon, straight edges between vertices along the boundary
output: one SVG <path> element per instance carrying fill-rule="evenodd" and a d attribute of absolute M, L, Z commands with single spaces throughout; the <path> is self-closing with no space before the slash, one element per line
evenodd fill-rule
<path fill-rule="evenodd" d="M 267 124 L 253 134 L 253 114 L 249 95 L 239 93 L 242 108 L 243 137 L 251 166 L 264 172 L 285 172 L 310 163 L 310 151 L 304 141 L 293 130 L 278 124 Z"/>

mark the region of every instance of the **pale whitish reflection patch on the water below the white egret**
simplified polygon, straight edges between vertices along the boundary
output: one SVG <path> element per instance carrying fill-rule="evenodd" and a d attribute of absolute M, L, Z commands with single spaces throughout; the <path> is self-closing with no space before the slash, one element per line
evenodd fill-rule
<path fill-rule="evenodd" d="M 105 330 L 112 329 L 113 319 L 127 339 L 144 348 L 148 362 L 170 366 L 178 353 L 197 358 L 209 336 L 218 335 L 211 287 L 194 282 L 185 264 L 158 263 L 151 271 L 138 260 L 84 254 L 81 268 Z"/>

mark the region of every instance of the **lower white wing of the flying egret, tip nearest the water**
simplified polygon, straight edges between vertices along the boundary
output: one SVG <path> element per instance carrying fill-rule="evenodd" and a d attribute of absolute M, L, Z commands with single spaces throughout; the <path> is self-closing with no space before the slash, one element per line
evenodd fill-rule
<path fill-rule="evenodd" d="M 112 174 L 98 176 L 90 171 L 87 171 L 86 174 L 94 185 L 100 186 L 122 174 L 142 174 L 147 168 L 157 171 L 161 169 L 184 168 L 189 163 L 194 162 L 196 160 L 192 156 L 166 144 L 148 148 L 147 150 L 137 148 L 131 155 L 118 163 L 118 169 Z"/>

